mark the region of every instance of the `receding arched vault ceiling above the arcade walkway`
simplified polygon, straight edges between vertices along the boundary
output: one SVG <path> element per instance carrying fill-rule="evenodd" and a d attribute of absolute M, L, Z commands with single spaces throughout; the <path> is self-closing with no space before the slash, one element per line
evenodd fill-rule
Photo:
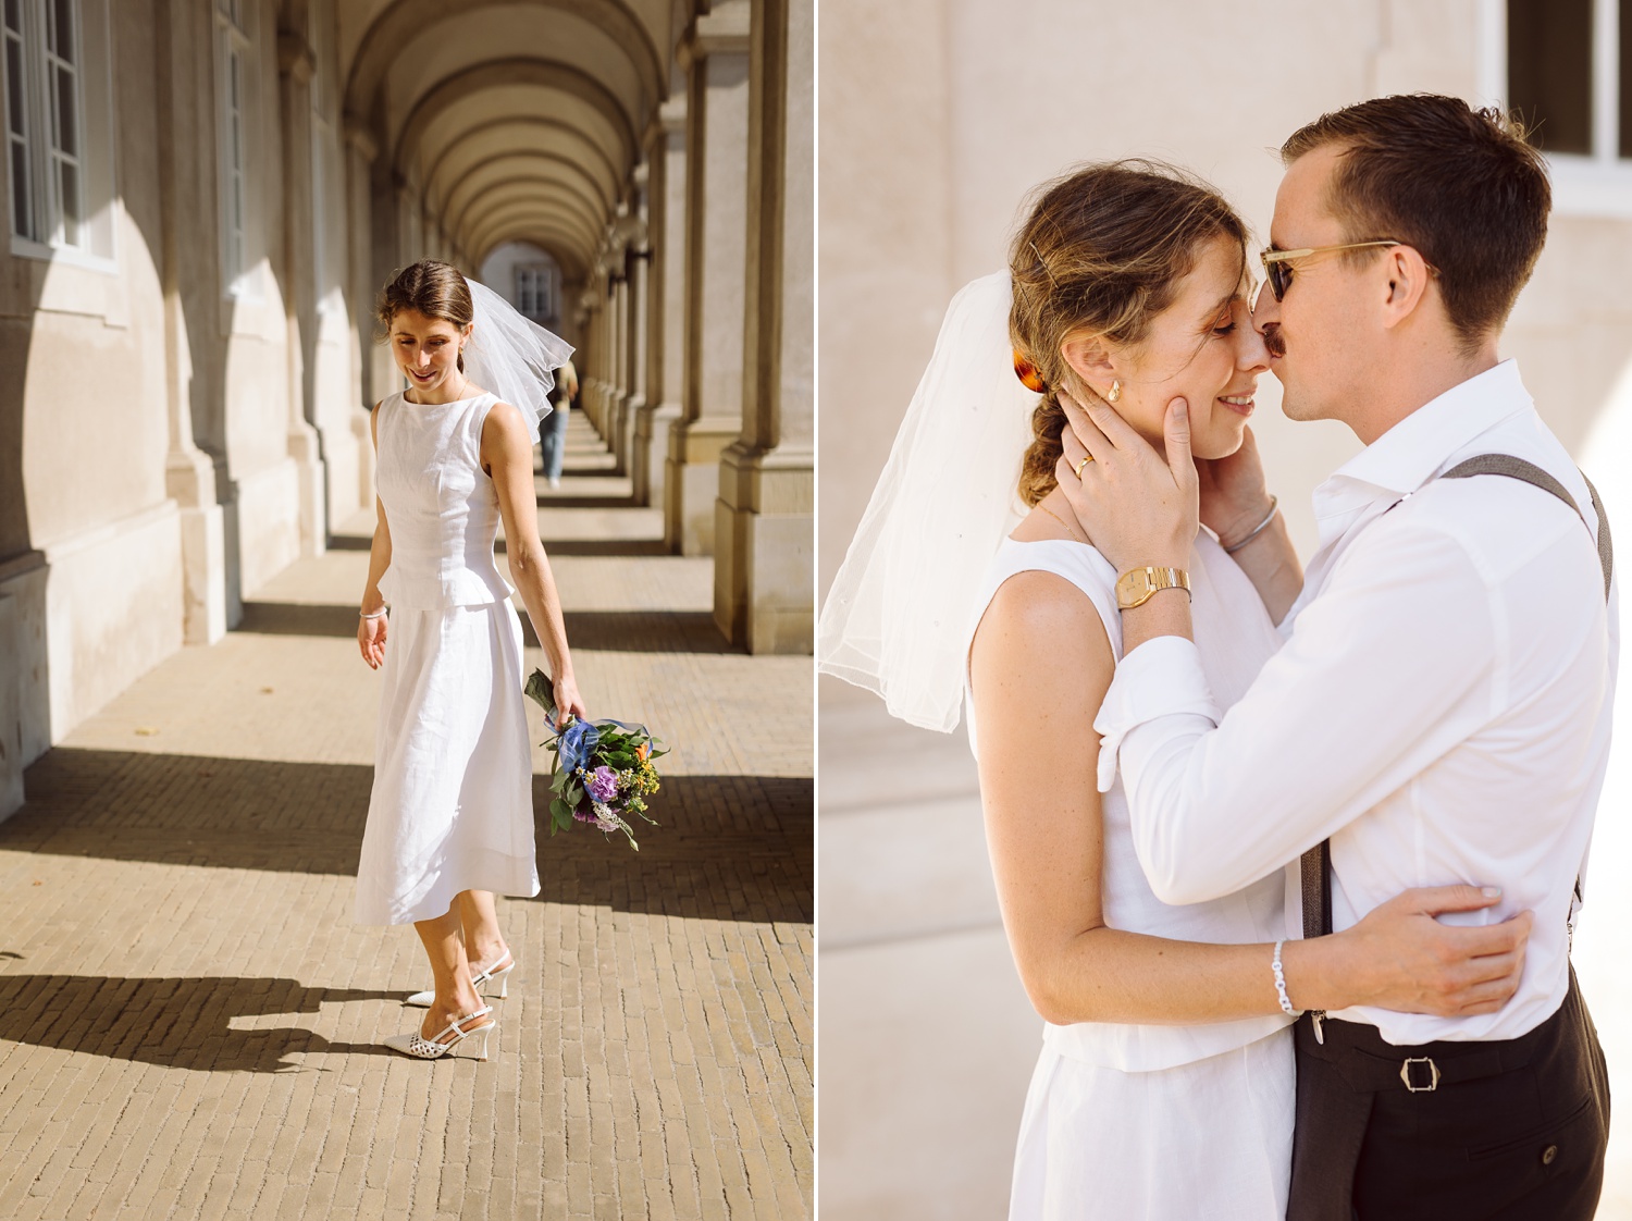
<path fill-rule="evenodd" d="M 336 0 L 346 121 L 449 240 L 583 279 L 667 93 L 676 0 Z"/>

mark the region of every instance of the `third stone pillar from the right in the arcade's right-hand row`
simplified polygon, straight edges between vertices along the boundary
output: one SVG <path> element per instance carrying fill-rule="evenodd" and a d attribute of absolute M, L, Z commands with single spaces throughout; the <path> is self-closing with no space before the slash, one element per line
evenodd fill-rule
<path fill-rule="evenodd" d="M 646 402 L 635 413 L 630 473 L 636 504 L 666 504 L 669 429 L 681 416 L 685 354 L 685 95 L 676 93 L 646 132 Z"/>

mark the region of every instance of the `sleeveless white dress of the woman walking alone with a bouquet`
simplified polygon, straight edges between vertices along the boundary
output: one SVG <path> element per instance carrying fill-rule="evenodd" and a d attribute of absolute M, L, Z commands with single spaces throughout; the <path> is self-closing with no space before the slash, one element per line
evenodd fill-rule
<path fill-rule="evenodd" d="M 359 924 L 434 919 L 462 890 L 539 893 L 521 619 L 493 562 L 499 501 L 480 457 L 494 402 L 380 405 L 392 614 Z"/>

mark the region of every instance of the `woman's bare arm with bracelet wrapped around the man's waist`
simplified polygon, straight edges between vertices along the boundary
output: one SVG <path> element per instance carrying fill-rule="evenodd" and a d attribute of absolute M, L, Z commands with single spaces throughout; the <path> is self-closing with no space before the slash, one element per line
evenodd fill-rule
<path fill-rule="evenodd" d="M 1113 668 L 1098 614 L 1053 573 L 1010 578 L 971 646 L 986 837 L 1027 994 L 1054 1023 L 1276 1014 L 1271 945 L 1177 942 L 1105 926 L 1092 725 Z M 1289 999 L 1299 1009 L 1493 1012 L 1518 988 L 1529 916 L 1464 929 L 1433 912 L 1495 901 L 1474 886 L 1407 891 L 1355 929 L 1288 942 Z"/>

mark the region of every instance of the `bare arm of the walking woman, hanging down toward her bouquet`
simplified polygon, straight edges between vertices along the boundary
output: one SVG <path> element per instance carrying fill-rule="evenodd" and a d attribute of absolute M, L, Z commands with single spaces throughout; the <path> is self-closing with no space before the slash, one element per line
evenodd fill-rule
<path fill-rule="evenodd" d="M 481 424 L 481 468 L 493 477 L 504 519 L 504 553 L 511 581 L 521 593 L 543 646 L 555 684 L 555 702 L 561 712 L 588 717 L 573 674 L 573 658 L 566 648 L 566 622 L 561 599 L 555 591 L 550 560 L 539 539 L 539 493 L 532 482 L 532 437 L 521 411 L 509 403 L 494 403 Z"/>

